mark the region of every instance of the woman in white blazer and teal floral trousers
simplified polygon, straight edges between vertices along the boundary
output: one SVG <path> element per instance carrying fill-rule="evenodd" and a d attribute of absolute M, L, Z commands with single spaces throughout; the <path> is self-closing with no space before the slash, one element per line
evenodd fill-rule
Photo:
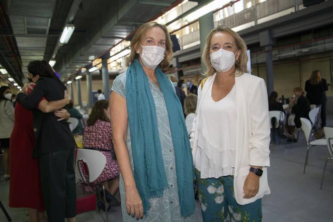
<path fill-rule="evenodd" d="M 270 193 L 270 125 L 265 81 L 248 74 L 246 45 L 226 27 L 213 29 L 202 58 L 191 130 L 196 183 L 204 221 L 261 221 Z"/>

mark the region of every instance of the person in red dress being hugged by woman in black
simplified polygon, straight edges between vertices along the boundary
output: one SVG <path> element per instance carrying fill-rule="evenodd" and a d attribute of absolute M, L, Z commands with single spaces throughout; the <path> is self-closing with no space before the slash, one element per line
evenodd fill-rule
<path fill-rule="evenodd" d="M 31 88 L 35 85 L 29 83 Z M 28 93 L 31 89 L 28 89 Z M 61 109 L 69 102 L 70 98 L 65 93 L 65 98 L 48 102 L 42 98 L 38 108 L 44 113 L 54 112 L 60 119 L 68 119 L 66 109 Z M 58 110 L 61 109 L 61 110 Z M 33 159 L 35 138 L 33 132 L 32 111 L 25 109 L 19 102 L 15 106 L 15 123 L 10 138 L 10 207 L 27 207 L 29 221 L 46 221 L 44 204 L 41 192 L 39 161 Z"/>

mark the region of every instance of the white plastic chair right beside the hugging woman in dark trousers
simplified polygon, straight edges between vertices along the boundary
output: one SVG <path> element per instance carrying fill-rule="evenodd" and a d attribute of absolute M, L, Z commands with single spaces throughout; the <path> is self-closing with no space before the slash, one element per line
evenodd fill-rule
<path fill-rule="evenodd" d="M 88 169 L 88 180 L 82 173 L 82 169 L 80 166 L 80 162 L 84 162 Z M 75 160 L 75 178 L 76 183 L 85 183 L 89 185 L 93 181 L 95 181 L 103 172 L 106 165 L 106 157 L 105 155 L 97 150 L 89 150 L 89 149 L 77 149 L 76 160 Z M 106 204 L 106 195 L 105 195 L 105 187 L 102 184 L 98 184 L 102 186 L 103 189 L 103 197 L 105 203 L 105 215 L 106 221 L 109 221 L 108 210 Z M 97 188 L 95 187 L 96 195 L 98 197 Z"/>

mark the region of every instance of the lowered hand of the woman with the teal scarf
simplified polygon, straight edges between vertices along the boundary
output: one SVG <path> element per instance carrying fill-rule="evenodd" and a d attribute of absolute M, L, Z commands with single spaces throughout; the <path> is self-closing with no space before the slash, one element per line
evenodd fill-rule
<path fill-rule="evenodd" d="M 143 216 L 143 204 L 136 187 L 126 189 L 126 209 L 128 214 L 137 219 Z"/>

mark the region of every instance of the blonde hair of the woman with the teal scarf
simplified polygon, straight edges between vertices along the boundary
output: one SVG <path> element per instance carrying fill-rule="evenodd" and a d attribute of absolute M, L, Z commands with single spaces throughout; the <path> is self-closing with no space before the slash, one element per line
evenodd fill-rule
<path fill-rule="evenodd" d="M 156 22 L 148 22 L 145 23 L 143 25 L 141 25 L 138 30 L 136 31 L 136 33 L 134 34 L 134 37 L 131 41 L 131 53 L 130 56 L 127 58 L 126 60 L 126 65 L 129 66 L 135 59 L 138 58 L 138 54 L 136 53 L 136 46 L 138 44 L 140 44 L 141 39 L 144 37 L 144 35 L 146 34 L 146 32 L 151 29 L 152 27 L 159 27 L 161 28 L 164 33 L 165 33 L 165 52 L 164 52 L 164 59 L 161 61 L 161 63 L 159 63 L 159 67 L 164 71 L 166 69 L 169 68 L 170 66 L 170 61 L 173 58 L 173 45 L 172 45 L 172 41 L 170 38 L 170 34 L 168 29 L 166 29 L 166 27 L 162 24 L 156 23 Z"/>

